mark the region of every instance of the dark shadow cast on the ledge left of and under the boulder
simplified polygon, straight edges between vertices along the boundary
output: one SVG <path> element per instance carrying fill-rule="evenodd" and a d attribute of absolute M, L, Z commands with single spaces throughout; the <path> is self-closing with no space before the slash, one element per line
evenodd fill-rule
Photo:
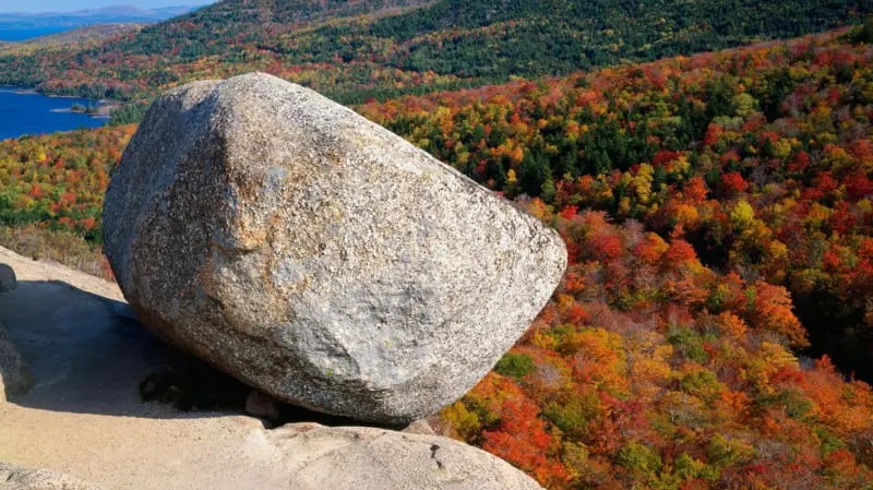
<path fill-rule="evenodd" d="M 19 282 L 0 295 L 0 322 L 33 374 L 10 402 L 119 417 L 250 415 L 267 428 L 313 421 L 360 425 L 260 394 L 143 328 L 127 303 L 67 283 Z"/>

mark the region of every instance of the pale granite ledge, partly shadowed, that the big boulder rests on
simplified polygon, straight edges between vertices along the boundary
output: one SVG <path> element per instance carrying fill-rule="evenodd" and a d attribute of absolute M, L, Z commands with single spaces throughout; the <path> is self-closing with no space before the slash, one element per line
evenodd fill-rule
<path fill-rule="evenodd" d="M 193 360 L 119 314 L 125 306 L 115 285 L 2 248 L 0 259 L 22 280 L 0 295 L 0 318 L 34 375 L 26 394 L 0 404 L 0 461 L 111 490 L 539 490 L 495 456 L 432 433 L 315 423 L 267 430 L 239 410 L 143 403 L 150 373 Z M 418 426 L 410 431 L 428 431 Z M 40 475 L 0 465 L 0 489 L 53 481 Z M 88 488 L 69 485 L 48 488 Z"/>

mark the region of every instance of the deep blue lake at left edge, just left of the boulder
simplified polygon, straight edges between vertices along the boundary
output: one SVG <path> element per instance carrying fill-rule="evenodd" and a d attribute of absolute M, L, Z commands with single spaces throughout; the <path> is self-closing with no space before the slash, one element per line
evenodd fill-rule
<path fill-rule="evenodd" d="M 73 104 L 87 106 L 88 100 L 47 97 L 33 91 L 0 87 L 0 140 L 106 124 L 106 118 L 71 112 Z"/>

